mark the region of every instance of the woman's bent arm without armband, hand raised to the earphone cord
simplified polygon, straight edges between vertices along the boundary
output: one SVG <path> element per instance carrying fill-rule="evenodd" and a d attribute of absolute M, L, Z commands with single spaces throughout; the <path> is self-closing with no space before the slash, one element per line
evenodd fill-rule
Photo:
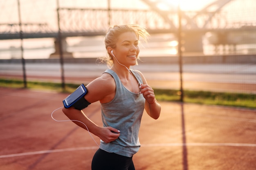
<path fill-rule="evenodd" d="M 157 119 L 160 116 L 161 105 L 155 99 L 154 90 L 147 84 L 146 78 L 143 76 L 141 72 L 139 72 L 139 74 L 141 75 L 141 78 L 143 79 L 144 83 L 140 85 L 140 88 L 141 94 L 143 94 L 144 98 L 146 99 L 145 110 L 151 118 Z"/>

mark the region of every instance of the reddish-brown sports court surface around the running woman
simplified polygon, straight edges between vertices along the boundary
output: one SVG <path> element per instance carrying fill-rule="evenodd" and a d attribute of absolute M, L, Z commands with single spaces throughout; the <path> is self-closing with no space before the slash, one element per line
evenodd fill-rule
<path fill-rule="evenodd" d="M 97 144 L 51 117 L 67 95 L 0 87 L 0 170 L 90 170 Z M 142 118 L 136 170 L 256 169 L 256 109 L 160 104 L 158 120 Z M 101 125 L 99 102 L 84 111 Z M 61 109 L 53 117 L 67 120 Z"/>

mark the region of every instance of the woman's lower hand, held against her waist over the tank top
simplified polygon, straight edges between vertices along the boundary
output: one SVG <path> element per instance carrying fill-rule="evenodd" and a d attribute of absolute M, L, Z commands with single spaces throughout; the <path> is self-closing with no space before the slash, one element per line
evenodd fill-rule
<path fill-rule="evenodd" d="M 101 140 L 105 143 L 115 141 L 120 136 L 120 131 L 113 127 L 101 127 L 100 133 L 98 135 Z"/>

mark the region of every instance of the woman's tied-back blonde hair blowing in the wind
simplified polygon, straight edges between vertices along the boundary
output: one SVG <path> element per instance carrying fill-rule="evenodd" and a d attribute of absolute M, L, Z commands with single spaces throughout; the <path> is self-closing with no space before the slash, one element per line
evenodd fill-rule
<path fill-rule="evenodd" d="M 126 32 L 134 32 L 138 36 L 138 39 L 139 37 L 141 37 L 142 41 L 144 42 L 147 42 L 149 37 L 149 34 L 146 31 L 146 28 L 142 26 L 134 25 L 134 24 L 114 25 L 112 27 L 109 27 L 106 33 L 106 36 L 104 39 L 105 48 L 106 49 L 108 47 L 115 48 L 119 35 Z M 108 52 L 107 57 L 101 58 L 101 62 L 106 63 L 109 67 L 111 67 L 113 65 L 112 55 Z"/>

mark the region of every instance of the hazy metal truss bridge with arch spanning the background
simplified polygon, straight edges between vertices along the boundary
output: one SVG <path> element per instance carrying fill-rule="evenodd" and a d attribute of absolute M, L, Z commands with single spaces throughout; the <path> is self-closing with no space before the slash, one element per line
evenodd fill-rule
<path fill-rule="evenodd" d="M 131 23 L 146 27 L 150 34 L 177 34 L 180 17 L 182 35 L 186 42 L 184 46 L 188 51 L 202 51 L 202 36 L 207 32 L 215 36 L 209 37 L 213 44 L 239 44 L 240 41 L 230 39 L 238 33 L 249 34 L 244 41 L 255 44 L 256 19 L 230 22 L 227 13 L 222 10 L 231 2 L 242 0 L 215 0 L 201 11 L 181 11 L 180 15 L 178 8 L 166 0 L 141 1 L 149 9 L 58 8 L 61 35 L 63 38 L 104 35 L 111 24 Z M 159 3 L 163 3 L 168 10 L 159 9 Z M 256 4 L 252 6 L 256 7 Z M 48 23 L 0 23 L 0 39 L 20 39 L 20 26 L 23 39 L 58 38 L 58 29 Z"/>

